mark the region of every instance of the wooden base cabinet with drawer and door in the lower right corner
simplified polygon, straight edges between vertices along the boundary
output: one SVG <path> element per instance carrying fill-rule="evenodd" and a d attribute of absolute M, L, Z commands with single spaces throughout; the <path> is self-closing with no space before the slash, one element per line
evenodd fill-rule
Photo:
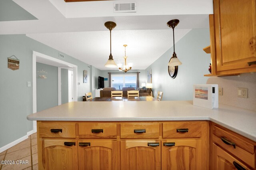
<path fill-rule="evenodd" d="M 255 169 L 256 142 L 220 125 L 211 124 L 211 169 L 235 170 L 240 166 L 244 169 Z M 240 169 L 243 170 L 243 168 Z"/>

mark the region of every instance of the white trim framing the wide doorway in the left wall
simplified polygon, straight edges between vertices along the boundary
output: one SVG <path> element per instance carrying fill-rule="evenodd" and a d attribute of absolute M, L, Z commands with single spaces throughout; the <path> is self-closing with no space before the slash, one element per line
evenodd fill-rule
<path fill-rule="evenodd" d="M 47 60 L 49 63 L 57 63 L 62 65 L 63 67 L 72 67 L 73 68 L 73 101 L 77 101 L 78 96 L 78 89 L 77 89 L 77 65 L 68 63 L 66 61 L 62 61 L 60 59 L 56 59 L 54 57 L 50 57 L 48 55 L 32 51 L 32 97 L 33 97 L 33 113 L 36 113 L 36 59 L 44 59 Z M 58 93 L 59 95 L 59 93 Z M 36 121 L 33 121 L 33 130 L 34 132 L 37 131 L 36 129 Z"/>

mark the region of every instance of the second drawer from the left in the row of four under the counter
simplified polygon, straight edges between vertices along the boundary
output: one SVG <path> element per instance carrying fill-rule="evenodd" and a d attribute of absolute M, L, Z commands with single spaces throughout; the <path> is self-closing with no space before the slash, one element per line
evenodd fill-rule
<path fill-rule="evenodd" d="M 79 138 L 116 138 L 116 123 L 79 123 Z"/>

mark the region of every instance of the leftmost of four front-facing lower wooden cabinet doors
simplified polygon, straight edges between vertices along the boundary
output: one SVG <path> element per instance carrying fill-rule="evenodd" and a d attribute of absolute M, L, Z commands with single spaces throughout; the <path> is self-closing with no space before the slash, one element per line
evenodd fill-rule
<path fill-rule="evenodd" d="M 78 170 L 75 140 L 43 140 L 42 166 L 46 170 Z M 40 161 L 40 160 L 39 160 Z"/>

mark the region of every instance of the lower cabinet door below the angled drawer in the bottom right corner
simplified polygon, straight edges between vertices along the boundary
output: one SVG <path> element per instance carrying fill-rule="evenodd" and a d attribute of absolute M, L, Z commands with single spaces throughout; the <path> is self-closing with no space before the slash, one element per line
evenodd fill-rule
<path fill-rule="evenodd" d="M 243 162 L 237 160 L 220 147 L 213 144 L 213 170 L 250 170 Z"/>

